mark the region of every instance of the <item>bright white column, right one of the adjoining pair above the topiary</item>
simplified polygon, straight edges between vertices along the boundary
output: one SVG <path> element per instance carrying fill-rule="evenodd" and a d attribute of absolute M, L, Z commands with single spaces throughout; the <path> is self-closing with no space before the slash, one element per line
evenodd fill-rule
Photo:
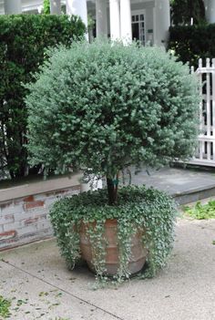
<path fill-rule="evenodd" d="M 132 41 L 130 0 L 120 0 L 120 28 L 124 43 Z"/>

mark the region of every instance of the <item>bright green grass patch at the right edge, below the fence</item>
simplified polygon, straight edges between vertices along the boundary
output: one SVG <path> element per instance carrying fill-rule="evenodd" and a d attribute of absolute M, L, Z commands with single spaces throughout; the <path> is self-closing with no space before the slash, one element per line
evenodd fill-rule
<path fill-rule="evenodd" d="M 215 219 L 215 200 L 207 204 L 201 204 L 200 201 L 194 207 L 184 207 L 185 215 L 193 219 Z"/>

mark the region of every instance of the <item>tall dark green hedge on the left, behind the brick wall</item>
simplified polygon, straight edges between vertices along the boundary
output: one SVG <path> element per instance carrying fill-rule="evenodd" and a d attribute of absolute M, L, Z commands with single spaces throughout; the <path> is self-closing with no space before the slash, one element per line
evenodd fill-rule
<path fill-rule="evenodd" d="M 0 15 L 0 177 L 24 176 L 26 163 L 26 88 L 46 58 L 46 47 L 69 46 L 83 36 L 77 16 Z M 43 115 L 41 115 L 43 117 Z M 31 168 L 36 171 L 37 168 Z"/>

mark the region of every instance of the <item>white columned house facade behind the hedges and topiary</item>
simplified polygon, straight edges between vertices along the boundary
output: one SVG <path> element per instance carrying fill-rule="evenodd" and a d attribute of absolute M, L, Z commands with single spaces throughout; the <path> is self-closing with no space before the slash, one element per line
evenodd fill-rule
<path fill-rule="evenodd" d="M 204 0 L 206 15 L 215 23 L 215 0 Z M 80 15 L 87 25 L 87 15 L 96 22 L 96 35 L 138 39 L 142 44 L 165 46 L 170 26 L 169 0 L 50 0 L 51 14 Z M 37 14 L 43 0 L 0 0 L 0 14 Z"/>

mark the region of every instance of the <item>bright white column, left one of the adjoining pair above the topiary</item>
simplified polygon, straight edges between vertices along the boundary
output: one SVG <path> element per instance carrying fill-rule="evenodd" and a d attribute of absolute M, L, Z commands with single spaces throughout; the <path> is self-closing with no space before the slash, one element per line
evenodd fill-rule
<path fill-rule="evenodd" d="M 112 40 L 120 38 L 119 0 L 109 0 L 110 36 Z"/>

